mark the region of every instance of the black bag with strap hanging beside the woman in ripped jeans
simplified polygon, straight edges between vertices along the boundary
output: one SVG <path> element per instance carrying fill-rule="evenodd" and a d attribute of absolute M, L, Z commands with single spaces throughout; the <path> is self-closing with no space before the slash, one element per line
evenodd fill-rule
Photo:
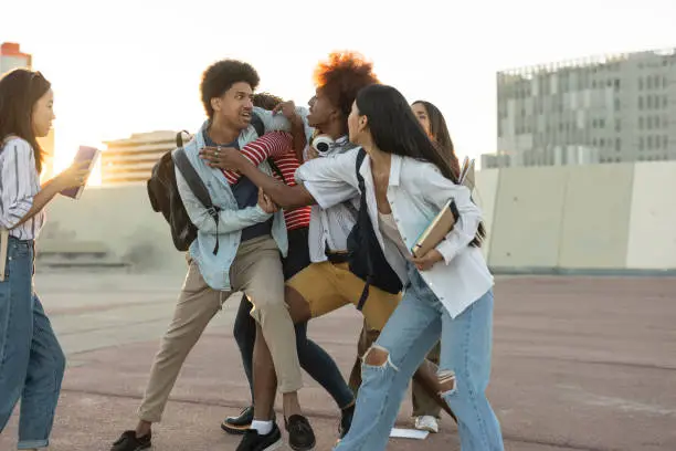
<path fill-rule="evenodd" d="M 401 292 L 403 285 L 399 275 L 392 270 L 390 263 L 384 258 L 382 248 L 378 242 L 378 237 L 373 231 L 373 223 L 369 217 L 369 208 L 366 199 L 366 186 L 363 177 L 359 174 L 359 168 L 366 157 L 366 150 L 359 149 L 357 154 L 357 180 L 359 181 L 359 192 L 361 202 L 357 213 L 357 223 L 350 231 L 347 239 L 348 264 L 350 272 L 366 282 L 361 297 L 357 303 L 357 310 L 363 308 L 363 304 L 369 297 L 369 286 L 373 285 L 391 294 Z"/>

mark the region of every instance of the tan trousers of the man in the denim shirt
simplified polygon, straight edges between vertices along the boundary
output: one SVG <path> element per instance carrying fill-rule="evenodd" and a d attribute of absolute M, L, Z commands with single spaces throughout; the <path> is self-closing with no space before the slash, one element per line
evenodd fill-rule
<path fill-rule="evenodd" d="M 279 391 L 302 387 L 294 324 L 284 302 L 284 275 L 277 244 L 270 237 L 255 238 L 240 245 L 230 269 L 232 292 L 209 287 L 196 262 L 189 260 L 188 275 L 181 289 L 173 319 L 155 357 L 139 418 L 161 420 L 165 406 L 179 371 L 211 318 L 235 291 L 243 291 L 254 308 L 251 315 L 261 325 L 273 357 Z"/>

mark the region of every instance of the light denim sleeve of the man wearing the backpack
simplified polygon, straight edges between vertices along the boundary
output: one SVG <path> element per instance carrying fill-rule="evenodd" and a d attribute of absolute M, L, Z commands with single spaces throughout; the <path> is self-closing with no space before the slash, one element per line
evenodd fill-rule
<path fill-rule="evenodd" d="M 216 223 L 207 211 L 207 208 L 200 202 L 200 200 L 192 193 L 188 182 L 181 175 L 181 171 L 176 170 L 176 185 L 186 207 L 186 212 L 190 218 L 190 221 L 198 228 L 202 233 L 215 234 Z M 219 219 L 219 233 L 231 233 L 237 230 L 245 229 L 250 226 L 255 226 L 260 222 L 267 221 L 272 214 L 266 213 L 260 206 L 247 207 L 241 210 L 222 210 Z"/>

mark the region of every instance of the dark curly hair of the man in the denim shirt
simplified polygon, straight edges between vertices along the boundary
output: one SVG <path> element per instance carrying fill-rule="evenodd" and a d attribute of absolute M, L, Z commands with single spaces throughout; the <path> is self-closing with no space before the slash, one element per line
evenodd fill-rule
<path fill-rule="evenodd" d="M 242 61 L 222 60 L 210 65 L 202 74 L 202 83 L 200 84 L 202 105 L 204 105 L 209 118 L 213 117 L 212 98 L 222 96 L 233 84 L 240 82 L 249 83 L 251 88 L 255 91 L 260 81 L 256 70 Z"/>

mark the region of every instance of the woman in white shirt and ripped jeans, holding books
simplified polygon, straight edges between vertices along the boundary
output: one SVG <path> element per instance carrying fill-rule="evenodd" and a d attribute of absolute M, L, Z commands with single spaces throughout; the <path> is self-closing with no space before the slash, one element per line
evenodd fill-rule
<path fill-rule="evenodd" d="M 352 150 L 306 162 L 296 178 L 323 208 L 359 192 L 363 177 L 373 232 L 387 263 L 406 285 L 376 344 L 363 357 L 352 427 L 337 450 L 384 450 L 406 386 L 441 337 L 439 390 L 457 417 L 463 451 L 503 451 L 486 398 L 493 343 L 493 275 L 479 249 L 480 210 L 457 185 L 450 157 L 432 143 L 393 87 L 360 91 L 349 120 Z M 410 249 L 448 202 L 458 219 L 427 254 Z"/>

